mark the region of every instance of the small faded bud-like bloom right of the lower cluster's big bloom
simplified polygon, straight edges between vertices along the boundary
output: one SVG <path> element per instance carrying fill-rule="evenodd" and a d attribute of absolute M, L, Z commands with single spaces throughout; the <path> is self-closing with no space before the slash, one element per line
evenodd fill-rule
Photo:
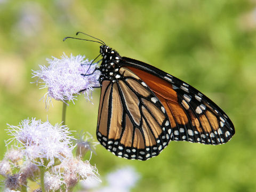
<path fill-rule="evenodd" d="M 78 137 L 79 139 L 75 140 L 77 146 L 76 156 L 78 158 L 83 158 L 89 150 L 95 154 L 95 146 L 97 146 L 99 142 L 95 142 L 92 135 L 88 132 L 80 133 Z"/>

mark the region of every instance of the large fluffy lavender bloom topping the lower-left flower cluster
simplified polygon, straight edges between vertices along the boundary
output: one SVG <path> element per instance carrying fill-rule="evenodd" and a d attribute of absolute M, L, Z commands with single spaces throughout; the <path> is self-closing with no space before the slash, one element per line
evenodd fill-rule
<path fill-rule="evenodd" d="M 7 124 L 9 125 L 9 124 Z M 41 122 L 32 118 L 25 119 L 20 125 L 9 125 L 9 135 L 17 141 L 17 147 L 24 151 L 25 157 L 36 165 L 43 165 L 46 159 L 54 162 L 57 158 L 63 161 L 71 157 L 73 146 L 71 145 L 70 131 L 66 125 L 51 125 L 48 121 Z"/>

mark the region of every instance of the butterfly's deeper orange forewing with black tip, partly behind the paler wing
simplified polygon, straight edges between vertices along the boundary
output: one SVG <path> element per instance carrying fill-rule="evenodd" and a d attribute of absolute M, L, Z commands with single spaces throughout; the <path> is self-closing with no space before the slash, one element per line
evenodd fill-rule
<path fill-rule="evenodd" d="M 151 71 L 127 68 L 140 77 L 161 101 L 170 119 L 171 140 L 218 145 L 234 135 L 234 126 L 227 115 L 194 87 L 161 70 L 153 75 L 149 73 Z"/>

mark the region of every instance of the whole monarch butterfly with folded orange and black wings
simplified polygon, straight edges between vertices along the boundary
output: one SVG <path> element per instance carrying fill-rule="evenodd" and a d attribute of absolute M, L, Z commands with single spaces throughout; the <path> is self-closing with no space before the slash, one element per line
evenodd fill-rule
<path fill-rule="evenodd" d="M 97 139 L 114 155 L 147 160 L 170 141 L 219 145 L 235 134 L 229 117 L 194 87 L 147 63 L 121 57 L 98 40 Z"/>

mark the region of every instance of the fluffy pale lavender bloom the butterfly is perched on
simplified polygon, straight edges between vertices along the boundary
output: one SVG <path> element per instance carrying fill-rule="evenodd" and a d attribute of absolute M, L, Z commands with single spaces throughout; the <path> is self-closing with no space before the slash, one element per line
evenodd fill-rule
<path fill-rule="evenodd" d="M 54 57 L 47 59 L 50 66 L 39 66 L 41 70 L 33 70 L 33 77 L 38 77 L 39 83 L 43 83 L 41 89 L 48 88 L 48 92 L 45 94 L 46 107 L 49 106 L 52 98 L 74 103 L 77 94 L 80 94 L 82 90 L 85 90 L 83 93 L 90 100 L 93 87 L 99 86 L 100 71 L 94 71 L 97 64 L 90 65 L 92 61 L 84 60 L 84 58 L 85 56 L 77 55 L 75 57 L 72 54 L 67 57 L 63 53 L 61 59 Z M 81 74 L 91 75 L 82 76 Z"/>

